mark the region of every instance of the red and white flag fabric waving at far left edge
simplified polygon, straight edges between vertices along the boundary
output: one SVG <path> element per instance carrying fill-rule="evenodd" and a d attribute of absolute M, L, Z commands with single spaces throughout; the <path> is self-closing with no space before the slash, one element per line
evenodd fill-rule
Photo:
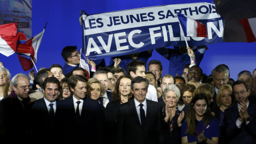
<path fill-rule="evenodd" d="M 0 25 L 0 53 L 6 57 L 17 51 L 17 41 L 25 39 L 27 39 L 25 34 L 17 34 L 17 23 Z"/>

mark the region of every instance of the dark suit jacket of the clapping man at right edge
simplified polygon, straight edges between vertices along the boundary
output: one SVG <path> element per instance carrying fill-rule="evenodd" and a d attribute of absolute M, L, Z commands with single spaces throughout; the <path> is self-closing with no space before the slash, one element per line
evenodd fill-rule
<path fill-rule="evenodd" d="M 236 120 L 239 117 L 238 106 L 231 106 L 224 111 L 223 123 L 226 133 L 229 137 L 229 143 L 255 143 L 256 141 L 256 105 L 249 103 L 247 112 L 251 117 L 249 124 L 243 122 L 240 129 L 236 126 Z"/>

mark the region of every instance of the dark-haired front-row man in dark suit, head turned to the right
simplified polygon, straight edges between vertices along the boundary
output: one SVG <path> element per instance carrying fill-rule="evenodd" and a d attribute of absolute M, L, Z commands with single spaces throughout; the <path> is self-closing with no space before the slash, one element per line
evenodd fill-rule
<path fill-rule="evenodd" d="M 73 96 L 58 103 L 55 115 L 61 143 L 103 143 L 103 114 L 97 101 L 85 98 L 86 82 L 81 75 L 68 78 Z"/>

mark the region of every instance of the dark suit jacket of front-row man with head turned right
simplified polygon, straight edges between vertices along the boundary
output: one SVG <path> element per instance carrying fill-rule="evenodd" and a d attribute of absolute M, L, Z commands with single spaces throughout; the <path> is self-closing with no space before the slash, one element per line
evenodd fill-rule
<path fill-rule="evenodd" d="M 73 96 L 61 100 L 56 111 L 61 143 L 103 143 L 103 114 L 99 102 L 84 98 L 79 119 L 75 115 Z"/>

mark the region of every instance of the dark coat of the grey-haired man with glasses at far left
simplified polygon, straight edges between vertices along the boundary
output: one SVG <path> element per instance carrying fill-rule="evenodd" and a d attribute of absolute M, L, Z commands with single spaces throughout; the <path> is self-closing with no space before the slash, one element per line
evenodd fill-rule
<path fill-rule="evenodd" d="M 21 104 L 14 91 L 0 102 L 0 139 L 9 143 L 30 143 L 29 98 Z"/>

